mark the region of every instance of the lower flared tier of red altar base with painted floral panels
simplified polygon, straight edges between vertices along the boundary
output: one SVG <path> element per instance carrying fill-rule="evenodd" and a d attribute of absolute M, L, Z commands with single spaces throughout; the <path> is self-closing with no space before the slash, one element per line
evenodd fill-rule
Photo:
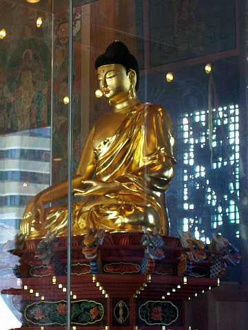
<path fill-rule="evenodd" d="M 67 276 L 16 281 L 19 287 L 3 289 L 1 293 L 20 298 L 20 330 L 65 328 Z M 185 326 L 185 301 L 217 285 L 217 279 L 155 274 L 72 275 L 72 330 L 188 330 L 191 328 Z M 82 306 L 87 312 L 77 317 Z M 51 313 L 49 321 L 45 315 L 50 309 L 54 319 Z"/>

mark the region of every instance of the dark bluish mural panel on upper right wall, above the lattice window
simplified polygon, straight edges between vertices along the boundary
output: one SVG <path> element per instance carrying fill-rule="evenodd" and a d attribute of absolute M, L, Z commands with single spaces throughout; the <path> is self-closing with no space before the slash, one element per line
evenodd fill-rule
<path fill-rule="evenodd" d="M 236 1 L 149 1 L 149 40 L 151 67 L 236 50 Z"/>

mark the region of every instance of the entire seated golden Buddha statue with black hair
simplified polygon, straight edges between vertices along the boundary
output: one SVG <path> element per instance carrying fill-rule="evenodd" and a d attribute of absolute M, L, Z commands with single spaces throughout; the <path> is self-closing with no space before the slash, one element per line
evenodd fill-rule
<path fill-rule="evenodd" d="M 138 63 L 121 41 L 107 47 L 95 67 L 103 95 L 114 110 L 90 131 L 72 192 L 93 197 L 72 203 L 72 234 L 104 227 L 107 232 L 169 234 L 165 191 L 174 176 L 174 137 L 169 113 L 137 95 Z M 50 230 L 67 234 L 67 205 L 44 208 L 68 195 L 68 181 L 39 192 L 25 208 L 21 232 L 28 239 Z"/>

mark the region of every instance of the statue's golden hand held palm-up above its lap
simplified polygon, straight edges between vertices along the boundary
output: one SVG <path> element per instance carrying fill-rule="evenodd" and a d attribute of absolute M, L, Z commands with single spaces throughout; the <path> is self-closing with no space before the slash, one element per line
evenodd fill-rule
<path fill-rule="evenodd" d="M 74 189 L 75 196 L 106 196 L 116 194 L 123 188 L 118 181 L 87 180 L 82 181 L 82 184 L 90 187 L 85 190 Z"/>

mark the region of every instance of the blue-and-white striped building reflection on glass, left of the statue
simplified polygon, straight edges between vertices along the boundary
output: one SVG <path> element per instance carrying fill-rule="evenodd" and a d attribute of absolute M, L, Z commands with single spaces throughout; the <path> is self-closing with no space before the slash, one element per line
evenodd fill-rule
<path fill-rule="evenodd" d="M 50 183 L 50 128 L 2 135 L 0 148 L 0 221 L 18 232 L 27 201 Z"/>

